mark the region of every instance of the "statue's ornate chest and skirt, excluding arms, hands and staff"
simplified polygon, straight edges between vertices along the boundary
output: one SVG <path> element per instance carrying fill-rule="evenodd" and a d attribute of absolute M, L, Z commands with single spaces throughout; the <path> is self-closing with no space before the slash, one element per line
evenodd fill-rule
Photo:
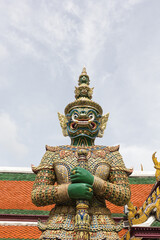
<path fill-rule="evenodd" d="M 118 146 L 111 148 L 103 146 L 87 148 L 88 171 L 90 171 L 91 174 L 108 181 L 111 165 L 116 166 L 118 164 L 118 158 L 115 160 L 115 154 L 119 154 L 117 151 L 118 148 Z M 120 159 L 120 161 L 122 161 L 122 159 Z M 77 148 L 71 146 L 47 147 L 45 160 L 42 161 L 39 167 L 42 168 L 42 165 L 48 165 L 50 168 L 54 169 L 58 185 L 71 183 L 71 170 L 78 166 Z M 60 229 L 61 232 L 62 229 L 64 231 L 73 231 L 74 217 L 76 214 L 75 206 L 76 201 L 72 200 L 63 204 L 56 204 L 55 208 L 53 208 L 50 213 L 47 224 L 39 225 L 41 230 L 46 230 L 44 232 L 44 236 L 47 236 L 47 232 L 49 230 L 52 230 L 53 232 Z M 118 231 L 119 227 L 115 225 L 113 219 L 111 218 L 111 213 L 106 207 L 104 197 L 99 197 L 98 195 L 93 196 L 90 201 L 89 214 L 92 219 L 90 231 L 99 232 L 97 238 L 94 237 L 94 239 L 102 239 L 105 231 L 109 230 L 109 232 L 112 232 L 116 231 L 116 229 Z M 65 238 L 67 239 L 66 235 Z"/>

